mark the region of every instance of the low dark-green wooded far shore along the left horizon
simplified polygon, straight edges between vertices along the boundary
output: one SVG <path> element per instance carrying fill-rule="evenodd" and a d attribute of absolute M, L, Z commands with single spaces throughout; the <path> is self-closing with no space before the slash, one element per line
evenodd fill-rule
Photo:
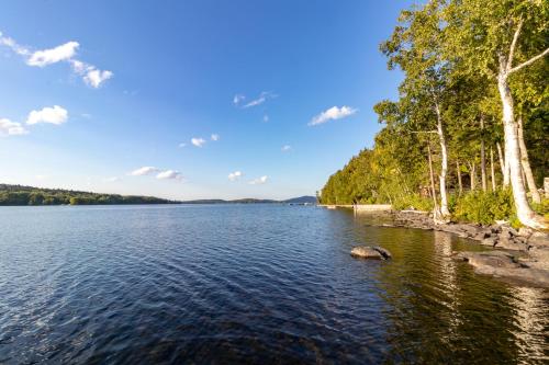
<path fill-rule="evenodd" d="M 171 204 L 153 196 L 97 194 L 61 189 L 41 189 L 0 184 L 0 205 L 99 205 L 99 204 Z"/>

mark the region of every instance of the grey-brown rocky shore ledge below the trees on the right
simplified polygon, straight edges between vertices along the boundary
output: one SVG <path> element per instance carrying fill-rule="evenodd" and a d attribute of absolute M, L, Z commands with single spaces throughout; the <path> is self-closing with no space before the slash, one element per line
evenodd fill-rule
<path fill-rule="evenodd" d="M 518 230 L 506 223 L 491 226 L 449 223 L 437 225 L 428 213 L 403 210 L 391 213 L 384 227 L 408 227 L 458 235 L 491 247 L 484 252 L 455 252 L 456 260 L 471 264 L 475 272 L 520 285 L 549 288 L 549 235 L 528 228 Z"/>

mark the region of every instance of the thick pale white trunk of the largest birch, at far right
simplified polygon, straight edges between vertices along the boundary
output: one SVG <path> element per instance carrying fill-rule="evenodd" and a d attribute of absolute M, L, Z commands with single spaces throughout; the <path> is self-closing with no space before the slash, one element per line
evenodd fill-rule
<path fill-rule="evenodd" d="M 531 228 L 547 228 L 541 217 L 531 210 L 526 197 L 526 190 L 520 172 L 520 150 L 518 147 L 517 126 L 514 116 L 513 95 L 507 82 L 506 60 L 502 57 L 500 61 L 500 75 L 497 76 L 497 90 L 503 106 L 503 130 L 505 133 L 505 155 L 509 169 L 511 186 L 517 217 L 520 223 Z"/>

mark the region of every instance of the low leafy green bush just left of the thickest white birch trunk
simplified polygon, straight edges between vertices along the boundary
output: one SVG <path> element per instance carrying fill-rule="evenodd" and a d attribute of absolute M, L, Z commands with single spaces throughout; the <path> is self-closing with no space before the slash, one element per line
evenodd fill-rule
<path fill-rule="evenodd" d="M 491 225 L 495 220 L 509 220 L 515 215 L 509 190 L 474 191 L 456 199 L 452 216 L 458 221 Z"/>

